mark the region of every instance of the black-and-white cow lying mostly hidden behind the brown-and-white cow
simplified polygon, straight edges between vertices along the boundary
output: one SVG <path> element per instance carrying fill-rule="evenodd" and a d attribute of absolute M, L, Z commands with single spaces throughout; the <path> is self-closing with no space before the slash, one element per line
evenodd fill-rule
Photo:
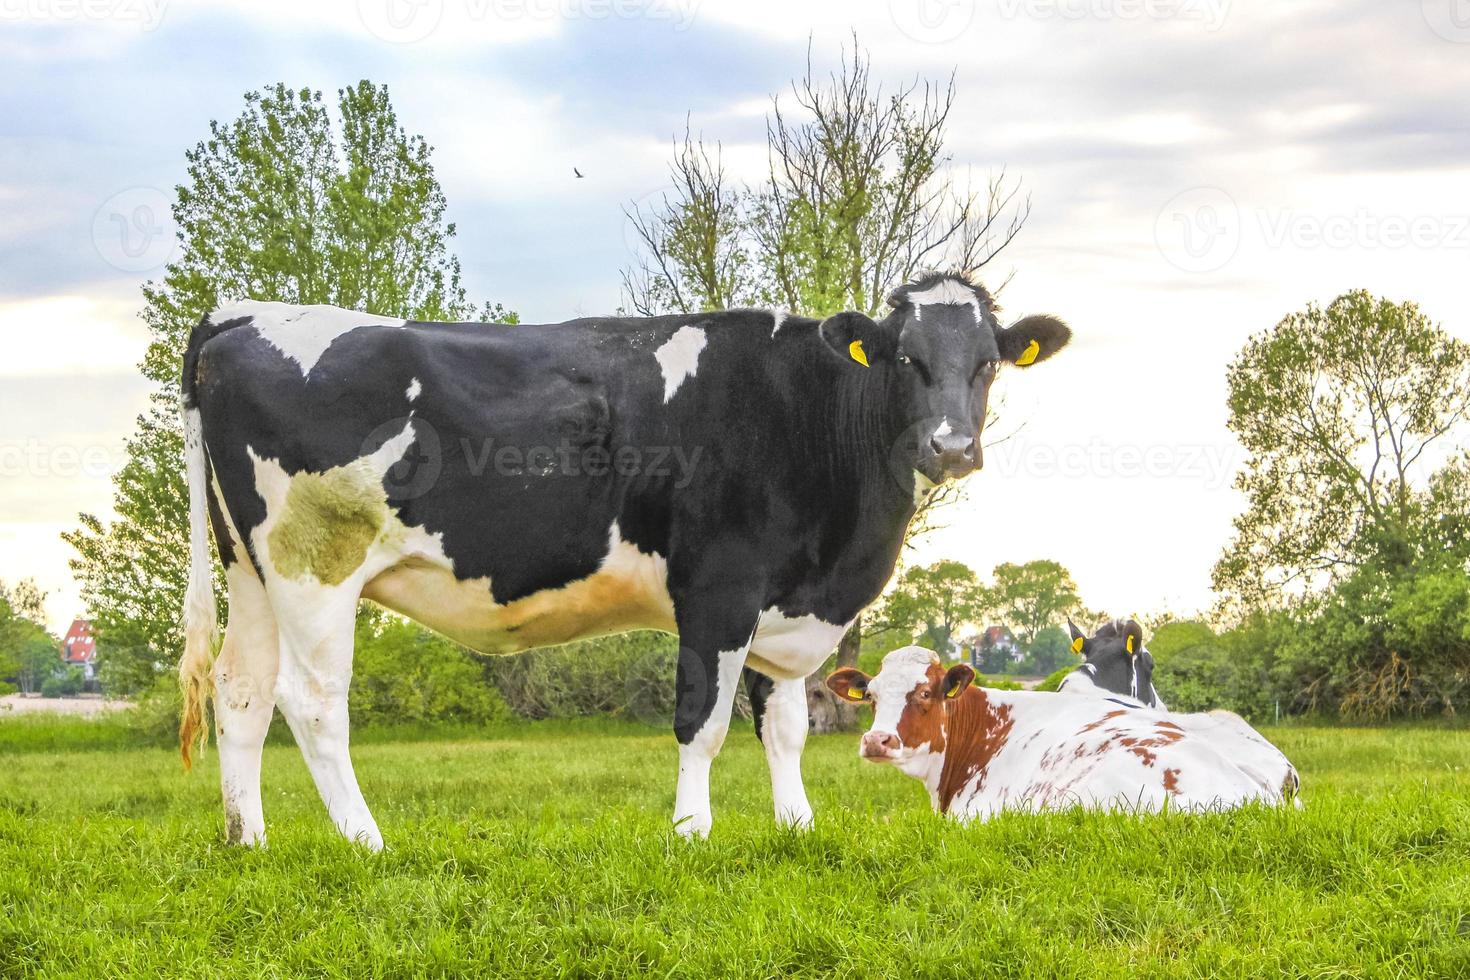
<path fill-rule="evenodd" d="M 1133 620 L 1104 623 L 1092 638 L 1067 621 L 1072 633 L 1072 649 L 1086 658 L 1067 674 L 1058 693 L 1083 695 L 1113 699 L 1129 698 L 1158 711 L 1167 711 L 1154 689 L 1154 657 L 1144 646 L 1144 627 Z M 1297 767 L 1279 748 L 1251 727 L 1233 711 L 1214 710 L 1192 714 L 1170 713 L 1170 720 L 1186 732 L 1207 739 L 1229 738 L 1236 746 L 1233 761 L 1238 767 L 1270 786 L 1283 786 L 1295 796 L 1299 786 Z"/>

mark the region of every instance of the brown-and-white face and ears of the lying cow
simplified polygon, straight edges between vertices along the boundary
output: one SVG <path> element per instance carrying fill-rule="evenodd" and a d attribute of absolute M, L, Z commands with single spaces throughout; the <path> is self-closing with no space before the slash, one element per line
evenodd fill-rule
<path fill-rule="evenodd" d="M 923 776 L 944 754 L 950 702 L 973 679 L 966 664 L 945 670 L 933 651 L 904 646 L 883 657 L 876 677 L 844 667 L 826 683 L 844 701 L 873 705 L 873 727 L 858 745 L 863 758 Z"/>

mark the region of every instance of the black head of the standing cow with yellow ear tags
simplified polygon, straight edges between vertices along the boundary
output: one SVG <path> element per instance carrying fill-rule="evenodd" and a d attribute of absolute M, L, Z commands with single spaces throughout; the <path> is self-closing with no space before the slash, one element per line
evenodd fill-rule
<path fill-rule="evenodd" d="M 1028 316 L 1008 328 L 995 319 L 983 287 L 963 276 L 931 275 L 888 297 L 881 323 L 838 313 L 822 336 L 841 357 L 894 372 L 895 406 L 907 425 L 908 463 L 931 483 L 980 469 L 980 430 L 997 369 L 1030 367 L 1072 338 L 1051 316 Z"/>

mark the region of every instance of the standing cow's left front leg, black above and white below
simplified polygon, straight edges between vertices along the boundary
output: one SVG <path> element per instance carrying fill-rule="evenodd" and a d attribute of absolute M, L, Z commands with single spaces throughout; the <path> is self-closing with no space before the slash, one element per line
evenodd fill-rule
<path fill-rule="evenodd" d="M 722 617 L 728 621 L 728 617 Z M 679 786 L 673 826 L 685 835 L 709 836 L 710 764 L 725 743 L 735 705 L 735 686 L 745 664 L 754 619 L 745 627 L 710 629 L 681 621 L 673 735 L 679 739 Z"/>

